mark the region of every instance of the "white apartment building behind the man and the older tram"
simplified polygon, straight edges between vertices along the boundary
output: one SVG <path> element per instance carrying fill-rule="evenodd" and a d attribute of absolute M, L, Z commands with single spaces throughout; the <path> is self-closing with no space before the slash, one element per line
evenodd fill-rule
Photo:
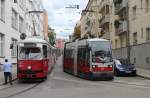
<path fill-rule="evenodd" d="M 35 10 L 43 10 L 42 0 L 0 0 L 0 63 L 5 58 L 16 63 L 15 46 L 20 34 L 43 36 L 42 16 L 28 13 Z M 13 49 L 10 49 L 11 44 Z"/>

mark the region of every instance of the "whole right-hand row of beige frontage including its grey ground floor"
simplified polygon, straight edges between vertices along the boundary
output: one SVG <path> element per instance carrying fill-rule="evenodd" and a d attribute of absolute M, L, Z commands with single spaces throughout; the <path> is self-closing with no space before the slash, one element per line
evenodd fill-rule
<path fill-rule="evenodd" d="M 149 16 L 150 0 L 89 0 L 82 12 L 81 37 L 110 39 L 114 58 L 150 69 Z"/>

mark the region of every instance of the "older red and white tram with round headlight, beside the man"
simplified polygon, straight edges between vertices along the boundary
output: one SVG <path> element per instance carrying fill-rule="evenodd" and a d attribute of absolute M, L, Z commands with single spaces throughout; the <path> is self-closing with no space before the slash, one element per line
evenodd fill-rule
<path fill-rule="evenodd" d="M 55 48 L 41 38 L 27 38 L 17 45 L 18 79 L 46 79 L 55 64 Z"/>

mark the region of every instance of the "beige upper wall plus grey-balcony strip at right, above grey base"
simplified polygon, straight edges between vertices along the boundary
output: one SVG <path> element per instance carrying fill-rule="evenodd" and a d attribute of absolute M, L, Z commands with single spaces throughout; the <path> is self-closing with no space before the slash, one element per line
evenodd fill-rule
<path fill-rule="evenodd" d="M 150 41 L 150 0 L 122 0 L 122 3 L 116 4 L 115 14 L 119 17 L 120 25 L 116 29 L 116 36 L 111 39 L 114 49 L 127 46 L 127 32 L 130 45 Z"/>

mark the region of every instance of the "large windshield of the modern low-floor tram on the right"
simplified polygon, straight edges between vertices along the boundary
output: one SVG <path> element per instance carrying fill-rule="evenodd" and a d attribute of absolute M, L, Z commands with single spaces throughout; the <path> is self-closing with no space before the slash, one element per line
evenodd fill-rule
<path fill-rule="evenodd" d="M 92 62 L 108 63 L 112 61 L 110 42 L 92 42 Z"/>

